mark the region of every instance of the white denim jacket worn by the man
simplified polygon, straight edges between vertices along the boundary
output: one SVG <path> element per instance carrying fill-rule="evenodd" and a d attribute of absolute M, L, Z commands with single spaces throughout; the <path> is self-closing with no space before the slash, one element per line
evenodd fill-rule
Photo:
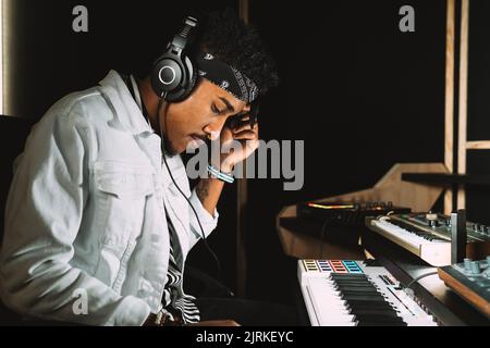
<path fill-rule="evenodd" d="M 142 325 L 167 281 L 169 231 L 183 250 L 201 237 L 162 166 L 160 137 L 120 75 L 57 102 L 15 162 L 2 249 L 0 296 L 27 316 L 89 325 Z M 180 156 L 168 158 L 206 236 L 209 214 Z"/>

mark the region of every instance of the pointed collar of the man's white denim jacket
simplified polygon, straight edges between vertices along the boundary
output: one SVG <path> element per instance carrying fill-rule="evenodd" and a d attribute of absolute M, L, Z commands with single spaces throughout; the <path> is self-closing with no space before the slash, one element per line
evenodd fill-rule
<path fill-rule="evenodd" d="M 99 85 L 101 86 L 101 92 L 115 111 L 114 119 L 117 122 L 109 122 L 111 126 L 122 127 L 134 135 L 145 132 L 154 133 L 118 72 L 111 70 Z"/>

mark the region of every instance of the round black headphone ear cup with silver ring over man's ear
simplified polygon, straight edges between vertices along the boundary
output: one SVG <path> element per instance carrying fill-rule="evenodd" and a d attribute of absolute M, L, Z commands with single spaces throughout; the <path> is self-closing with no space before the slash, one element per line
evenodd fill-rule
<path fill-rule="evenodd" d="M 150 77 L 151 87 L 159 97 L 174 92 L 186 78 L 186 73 L 179 60 L 168 54 L 162 55 L 155 62 Z"/>

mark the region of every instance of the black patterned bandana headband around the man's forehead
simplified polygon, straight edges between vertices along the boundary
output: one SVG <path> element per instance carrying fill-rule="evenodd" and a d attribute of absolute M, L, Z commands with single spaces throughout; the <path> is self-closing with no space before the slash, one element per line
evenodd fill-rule
<path fill-rule="evenodd" d="M 199 76 L 246 103 L 257 99 L 259 94 L 257 85 L 235 67 L 216 59 L 210 53 L 199 53 L 196 61 Z"/>

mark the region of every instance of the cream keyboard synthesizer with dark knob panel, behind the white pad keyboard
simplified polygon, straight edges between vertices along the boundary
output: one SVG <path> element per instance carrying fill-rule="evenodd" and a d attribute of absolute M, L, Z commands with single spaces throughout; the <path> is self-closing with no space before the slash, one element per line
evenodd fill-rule
<path fill-rule="evenodd" d="M 433 266 L 451 264 L 451 219 L 438 213 L 367 217 L 367 227 Z M 466 222 L 466 254 L 485 258 L 490 250 L 490 226 Z"/>

